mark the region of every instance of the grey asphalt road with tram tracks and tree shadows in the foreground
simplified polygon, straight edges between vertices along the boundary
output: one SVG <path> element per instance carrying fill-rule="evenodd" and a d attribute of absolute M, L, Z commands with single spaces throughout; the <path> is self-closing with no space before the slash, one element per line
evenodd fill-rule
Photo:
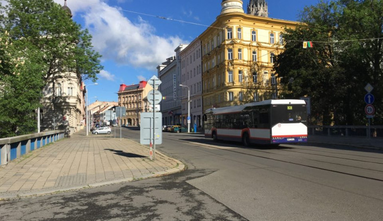
<path fill-rule="evenodd" d="M 117 136 L 118 136 L 117 130 Z M 123 128 L 139 142 L 139 131 Z M 167 177 L 0 202 L 0 219 L 380 220 L 383 152 L 336 146 L 243 148 L 164 133 L 187 165 Z"/>

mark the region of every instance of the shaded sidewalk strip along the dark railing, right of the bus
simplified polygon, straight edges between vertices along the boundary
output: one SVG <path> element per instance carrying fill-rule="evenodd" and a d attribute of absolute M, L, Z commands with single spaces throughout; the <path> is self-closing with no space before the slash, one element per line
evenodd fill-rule
<path fill-rule="evenodd" d="M 383 139 L 354 136 L 308 135 L 308 143 L 344 145 L 349 147 L 383 150 Z"/>

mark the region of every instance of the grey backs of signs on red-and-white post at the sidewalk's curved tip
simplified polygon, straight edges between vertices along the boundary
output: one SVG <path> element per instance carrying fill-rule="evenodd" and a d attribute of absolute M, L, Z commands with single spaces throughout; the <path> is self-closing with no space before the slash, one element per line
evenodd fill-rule
<path fill-rule="evenodd" d="M 148 84 L 152 86 L 153 90 L 148 93 L 147 99 L 152 104 L 153 117 L 151 113 L 141 113 L 141 127 L 140 127 L 140 143 L 150 145 L 150 159 L 152 159 L 152 144 L 154 147 L 153 159 L 156 157 L 156 143 L 162 144 L 162 113 L 156 112 L 159 110 L 157 105 L 162 100 L 162 95 L 157 91 L 158 86 L 161 84 L 161 80 L 155 75 L 148 80 Z M 158 126 L 156 126 L 158 125 Z M 149 129 L 149 133 L 148 133 Z M 146 137 L 149 134 L 149 138 Z"/>

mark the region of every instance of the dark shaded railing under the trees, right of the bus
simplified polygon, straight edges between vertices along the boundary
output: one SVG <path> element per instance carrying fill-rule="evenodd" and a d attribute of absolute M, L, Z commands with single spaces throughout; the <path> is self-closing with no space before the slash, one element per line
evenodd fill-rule
<path fill-rule="evenodd" d="M 318 126 L 309 125 L 308 134 L 328 136 L 363 136 L 383 138 L 383 126 Z"/>

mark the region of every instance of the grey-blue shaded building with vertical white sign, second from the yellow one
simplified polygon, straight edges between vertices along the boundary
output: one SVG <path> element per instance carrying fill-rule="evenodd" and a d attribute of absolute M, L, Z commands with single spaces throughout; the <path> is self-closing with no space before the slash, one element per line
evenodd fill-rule
<path fill-rule="evenodd" d="M 161 92 L 161 112 L 163 125 L 177 125 L 181 123 L 181 60 L 179 53 L 187 45 L 180 44 L 174 51 L 176 56 L 166 59 L 166 62 L 157 66 L 158 78 L 161 85 L 158 90 Z"/>

